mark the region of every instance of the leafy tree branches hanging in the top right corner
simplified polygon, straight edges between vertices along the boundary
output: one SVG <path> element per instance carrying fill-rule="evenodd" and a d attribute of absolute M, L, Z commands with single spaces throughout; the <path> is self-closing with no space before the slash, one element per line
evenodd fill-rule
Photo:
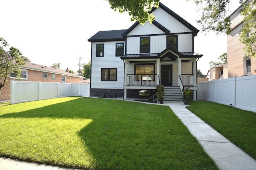
<path fill-rule="evenodd" d="M 230 17 L 227 16 L 230 0 L 194 0 L 201 16 L 197 20 L 202 31 L 215 31 L 229 34 L 231 32 Z M 240 42 L 245 45 L 247 57 L 256 57 L 256 0 L 239 0 L 243 8 L 240 14 L 244 17 L 244 26 L 240 31 Z"/>

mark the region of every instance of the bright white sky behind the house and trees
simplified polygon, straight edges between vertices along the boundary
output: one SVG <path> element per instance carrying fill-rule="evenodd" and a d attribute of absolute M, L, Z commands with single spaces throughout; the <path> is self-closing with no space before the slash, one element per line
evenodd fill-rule
<path fill-rule="evenodd" d="M 199 14 L 192 0 L 160 0 L 184 20 L 200 30 Z M 230 4 L 230 14 L 238 0 Z M 128 29 L 134 22 L 128 13 L 119 14 L 104 0 L 0 0 L 0 37 L 18 48 L 32 63 L 50 66 L 60 63 L 75 72 L 81 63 L 90 61 L 91 43 L 98 31 Z M 226 35 L 202 31 L 194 38 L 194 52 L 204 56 L 198 69 L 206 74 L 210 61 L 227 51 Z"/>

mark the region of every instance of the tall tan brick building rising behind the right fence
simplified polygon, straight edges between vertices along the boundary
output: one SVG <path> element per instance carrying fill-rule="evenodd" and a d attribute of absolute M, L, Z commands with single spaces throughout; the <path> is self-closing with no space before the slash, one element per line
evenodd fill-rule
<path fill-rule="evenodd" d="M 256 74 L 256 59 L 245 57 L 244 44 L 239 41 L 239 33 L 244 25 L 244 17 L 240 15 L 241 9 L 242 6 L 230 15 L 232 31 L 228 35 L 228 78 Z"/>

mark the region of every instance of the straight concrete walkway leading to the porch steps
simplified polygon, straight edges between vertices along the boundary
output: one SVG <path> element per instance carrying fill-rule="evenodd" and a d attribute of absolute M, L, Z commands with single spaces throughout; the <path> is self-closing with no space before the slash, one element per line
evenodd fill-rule
<path fill-rule="evenodd" d="M 256 160 L 194 115 L 183 102 L 164 102 L 196 137 L 220 170 L 256 170 Z"/>

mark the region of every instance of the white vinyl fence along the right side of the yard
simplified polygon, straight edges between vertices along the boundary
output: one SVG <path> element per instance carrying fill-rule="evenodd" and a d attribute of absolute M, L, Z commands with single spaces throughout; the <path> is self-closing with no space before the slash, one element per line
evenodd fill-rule
<path fill-rule="evenodd" d="M 198 82 L 198 100 L 256 112 L 256 75 Z"/>

